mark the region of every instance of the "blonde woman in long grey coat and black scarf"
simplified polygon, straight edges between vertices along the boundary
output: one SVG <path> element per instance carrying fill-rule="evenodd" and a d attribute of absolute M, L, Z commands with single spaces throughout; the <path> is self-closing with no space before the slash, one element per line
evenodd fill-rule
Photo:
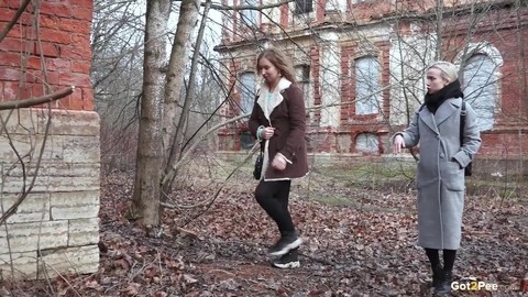
<path fill-rule="evenodd" d="M 464 167 L 481 145 L 475 112 L 465 103 L 465 125 L 460 143 L 460 117 L 464 95 L 457 67 L 436 62 L 426 72 L 427 95 L 409 127 L 396 133 L 393 152 L 419 144 L 416 172 L 418 188 L 418 244 L 426 250 L 437 293 L 451 289 L 452 270 L 460 248 L 464 208 Z M 439 251 L 442 250 L 443 267 Z"/>

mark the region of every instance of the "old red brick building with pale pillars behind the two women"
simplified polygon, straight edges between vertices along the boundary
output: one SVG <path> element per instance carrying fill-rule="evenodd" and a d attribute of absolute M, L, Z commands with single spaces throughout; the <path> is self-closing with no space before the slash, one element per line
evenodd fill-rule
<path fill-rule="evenodd" d="M 528 8 L 526 1 L 228 0 L 262 6 L 224 16 L 222 41 L 230 118 L 249 112 L 258 85 L 255 57 L 274 45 L 294 59 L 305 90 L 310 150 L 341 155 L 388 153 L 424 98 L 425 67 L 460 67 L 466 100 L 479 113 L 480 155 L 514 158 L 527 147 Z M 475 3 L 479 2 L 479 3 Z M 439 12 L 441 11 L 441 12 Z M 220 131 L 219 148 L 238 151 L 244 122 Z"/>

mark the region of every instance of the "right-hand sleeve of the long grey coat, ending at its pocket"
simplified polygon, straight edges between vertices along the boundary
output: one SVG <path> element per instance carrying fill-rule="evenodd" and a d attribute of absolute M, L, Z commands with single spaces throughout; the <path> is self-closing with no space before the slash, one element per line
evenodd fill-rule
<path fill-rule="evenodd" d="M 471 163 L 473 156 L 481 147 L 481 132 L 476 123 L 476 113 L 473 108 L 465 102 L 465 123 L 464 123 L 464 138 L 460 151 L 454 154 L 453 158 L 465 167 Z"/>

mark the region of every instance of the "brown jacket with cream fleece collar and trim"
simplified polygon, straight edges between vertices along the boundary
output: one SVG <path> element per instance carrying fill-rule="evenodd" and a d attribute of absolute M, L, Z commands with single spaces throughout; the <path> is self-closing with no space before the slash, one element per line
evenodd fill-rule
<path fill-rule="evenodd" d="M 263 86 L 255 99 L 250 117 L 249 128 L 256 138 L 258 127 L 274 127 L 275 134 L 265 144 L 264 150 L 264 180 L 283 180 L 302 177 L 308 173 L 308 160 L 305 144 L 306 111 L 302 91 L 282 78 L 277 86 L 278 94 L 274 103 L 267 106 L 267 88 Z M 289 162 L 284 170 L 268 166 L 277 153 L 283 154 Z"/>

